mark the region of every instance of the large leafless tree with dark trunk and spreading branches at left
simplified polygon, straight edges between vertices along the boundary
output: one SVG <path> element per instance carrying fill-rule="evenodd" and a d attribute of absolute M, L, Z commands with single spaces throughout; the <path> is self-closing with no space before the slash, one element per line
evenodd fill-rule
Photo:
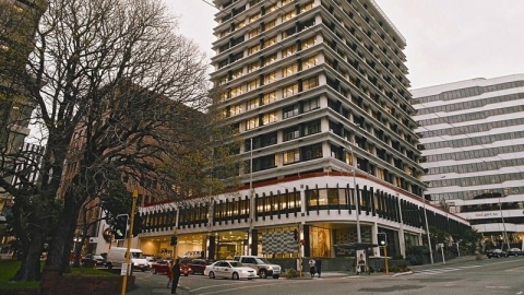
<path fill-rule="evenodd" d="M 184 185 L 177 170 L 200 168 L 187 158 L 210 138 L 210 98 L 204 56 L 175 28 L 157 0 L 47 1 L 21 81 L 46 143 L 38 179 L 0 179 L 24 224 L 15 280 L 39 280 L 48 238 L 46 267 L 66 270 L 79 212 L 115 172 L 150 194 L 187 197 L 171 188 Z"/>

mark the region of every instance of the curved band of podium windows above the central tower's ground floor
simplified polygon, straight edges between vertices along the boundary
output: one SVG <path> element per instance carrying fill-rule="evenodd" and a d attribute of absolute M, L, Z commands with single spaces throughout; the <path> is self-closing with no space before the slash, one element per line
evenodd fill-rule
<path fill-rule="evenodd" d="M 353 188 L 306 188 L 306 212 L 320 210 L 347 210 L 352 212 L 356 210 L 356 200 L 358 200 L 360 214 L 373 215 L 385 220 L 395 222 L 403 222 L 403 224 L 412 225 L 414 227 L 422 227 L 424 209 L 409 202 L 401 200 L 392 194 L 383 191 L 373 191 L 372 188 L 357 188 L 358 197 L 355 198 Z M 179 209 L 179 228 L 195 227 L 207 225 L 210 213 L 213 216 L 213 225 L 228 221 L 247 222 L 249 219 L 249 198 L 233 198 L 231 200 L 219 200 L 213 202 L 213 211 L 210 212 L 207 203 L 193 203 Z M 275 194 L 254 194 L 253 198 L 255 208 L 255 220 L 265 220 L 265 217 L 273 216 L 281 217 L 289 214 L 297 216 L 301 211 L 300 191 L 297 189 L 285 190 L 285 192 L 277 192 Z M 402 216 L 401 216 L 402 214 Z M 143 213 L 141 215 L 142 231 L 153 232 L 171 228 L 176 224 L 177 211 L 160 210 Z M 455 228 L 464 229 L 467 224 L 456 222 L 448 219 L 445 215 L 437 214 L 433 211 L 427 211 L 428 224 L 430 226 L 439 226 L 440 228 Z"/>

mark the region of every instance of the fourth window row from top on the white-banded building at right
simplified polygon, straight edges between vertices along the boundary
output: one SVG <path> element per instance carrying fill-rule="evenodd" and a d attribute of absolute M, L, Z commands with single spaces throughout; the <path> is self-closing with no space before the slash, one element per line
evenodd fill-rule
<path fill-rule="evenodd" d="M 476 123 L 476 125 L 468 125 L 468 126 L 461 126 L 461 127 L 450 127 L 450 128 L 440 129 L 440 130 L 421 131 L 419 133 L 421 138 L 432 138 L 432 137 L 443 137 L 443 135 L 464 135 L 464 134 L 472 134 L 475 132 L 486 132 L 496 128 L 507 128 L 507 127 L 522 126 L 522 125 L 524 125 L 524 118 L 515 118 L 515 119 L 509 119 L 504 121 L 485 122 L 485 123 Z"/>

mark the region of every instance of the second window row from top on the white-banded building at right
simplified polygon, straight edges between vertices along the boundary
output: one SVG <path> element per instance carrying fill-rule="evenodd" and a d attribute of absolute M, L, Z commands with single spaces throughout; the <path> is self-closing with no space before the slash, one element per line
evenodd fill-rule
<path fill-rule="evenodd" d="M 513 102 L 521 98 L 524 98 L 524 93 L 501 95 L 501 96 L 488 97 L 484 99 L 468 99 L 466 102 L 449 104 L 449 105 L 441 104 L 433 107 L 425 107 L 424 105 L 421 105 L 424 108 L 420 108 L 417 110 L 417 116 L 442 113 L 442 111 L 456 111 L 456 110 L 464 110 L 464 109 L 480 108 L 488 105 L 497 106 L 500 103 Z"/>

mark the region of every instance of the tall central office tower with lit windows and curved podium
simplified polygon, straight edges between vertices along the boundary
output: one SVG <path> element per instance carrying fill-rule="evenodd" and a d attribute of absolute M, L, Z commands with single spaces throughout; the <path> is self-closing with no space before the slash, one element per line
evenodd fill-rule
<path fill-rule="evenodd" d="M 468 226 L 422 202 L 405 40 L 374 1 L 214 3 L 211 76 L 222 122 L 243 139 L 240 187 L 146 208 L 159 222 L 144 224 L 144 252 L 171 250 L 175 231 L 175 255 L 212 259 L 350 257 L 337 246 L 352 243 L 377 256 L 378 233 L 405 255 L 428 224 Z"/>

